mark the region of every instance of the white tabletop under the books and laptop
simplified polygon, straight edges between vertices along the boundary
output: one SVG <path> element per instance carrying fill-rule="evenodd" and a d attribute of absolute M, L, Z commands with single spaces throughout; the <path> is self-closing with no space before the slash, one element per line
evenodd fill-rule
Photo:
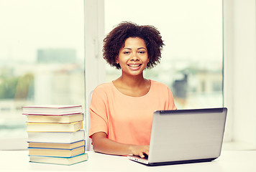
<path fill-rule="evenodd" d="M 87 152 L 88 161 L 72 166 L 29 163 L 28 151 L 0 151 L 0 171 L 206 171 L 255 172 L 256 151 L 222 151 L 221 156 L 208 163 L 171 166 L 145 166 L 124 156 L 109 156 Z"/>

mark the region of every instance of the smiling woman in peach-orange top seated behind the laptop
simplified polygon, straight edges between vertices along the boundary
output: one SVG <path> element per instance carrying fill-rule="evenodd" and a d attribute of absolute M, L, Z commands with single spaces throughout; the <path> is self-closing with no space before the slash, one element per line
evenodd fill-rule
<path fill-rule="evenodd" d="M 122 75 L 93 91 L 89 135 L 94 151 L 148 155 L 152 114 L 176 109 L 170 89 L 143 76 L 146 68 L 157 64 L 162 47 L 155 27 L 131 22 L 122 22 L 104 39 L 104 59 L 121 68 Z"/>

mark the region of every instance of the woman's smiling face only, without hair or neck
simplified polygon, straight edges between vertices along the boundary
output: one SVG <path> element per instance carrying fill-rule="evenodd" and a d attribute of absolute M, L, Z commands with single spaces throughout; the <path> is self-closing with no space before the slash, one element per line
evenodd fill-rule
<path fill-rule="evenodd" d="M 116 58 L 116 63 L 121 66 L 123 75 L 141 75 L 148 62 L 150 59 L 145 41 L 139 37 L 127 38 Z"/>

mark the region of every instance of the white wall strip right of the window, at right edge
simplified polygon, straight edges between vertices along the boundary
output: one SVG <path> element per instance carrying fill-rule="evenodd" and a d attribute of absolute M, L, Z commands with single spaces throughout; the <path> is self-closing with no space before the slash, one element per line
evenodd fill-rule
<path fill-rule="evenodd" d="M 255 0 L 224 0 L 224 105 L 244 149 L 256 149 L 255 21 Z"/>

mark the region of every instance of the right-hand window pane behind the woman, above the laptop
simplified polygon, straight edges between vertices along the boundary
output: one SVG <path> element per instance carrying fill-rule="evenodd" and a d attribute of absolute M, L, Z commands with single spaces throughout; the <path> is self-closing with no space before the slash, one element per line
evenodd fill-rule
<path fill-rule="evenodd" d="M 105 1 L 105 33 L 119 22 L 150 24 L 165 47 L 145 77 L 165 83 L 178 109 L 223 106 L 222 1 Z M 121 75 L 106 65 L 106 81 Z"/>

